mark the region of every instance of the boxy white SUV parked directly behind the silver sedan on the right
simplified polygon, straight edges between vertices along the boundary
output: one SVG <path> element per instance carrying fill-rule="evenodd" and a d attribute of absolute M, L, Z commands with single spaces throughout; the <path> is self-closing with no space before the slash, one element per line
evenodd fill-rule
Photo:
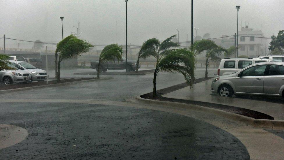
<path fill-rule="evenodd" d="M 222 59 L 219 68 L 217 70 L 217 76 L 228 75 L 235 73 L 249 65 L 260 63 L 260 62 L 269 62 L 272 60 L 269 59 L 256 59 L 256 58 L 225 58 Z"/>

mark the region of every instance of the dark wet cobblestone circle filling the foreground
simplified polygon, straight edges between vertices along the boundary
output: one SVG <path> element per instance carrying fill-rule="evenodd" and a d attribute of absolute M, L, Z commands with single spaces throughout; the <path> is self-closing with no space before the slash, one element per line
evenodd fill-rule
<path fill-rule="evenodd" d="M 230 133 L 194 118 L 80 103 L 0 103 L 0 122 L 28 130 L 0 159 L 250 159 Z"/>

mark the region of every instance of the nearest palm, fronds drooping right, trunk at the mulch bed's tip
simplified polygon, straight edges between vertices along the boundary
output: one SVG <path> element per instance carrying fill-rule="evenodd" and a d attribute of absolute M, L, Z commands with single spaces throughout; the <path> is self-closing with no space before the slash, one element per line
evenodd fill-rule
<path fill-rule="evenodd" d="M 160 71 L 182 73 L 187 84 L 192 86 L 194 82 L 194 69 L 194 54 L 186 48 L 166 50 L 163 54 L 160 54 L 154 71 L 153 97 L 157 96 L 156 78 Z"/>

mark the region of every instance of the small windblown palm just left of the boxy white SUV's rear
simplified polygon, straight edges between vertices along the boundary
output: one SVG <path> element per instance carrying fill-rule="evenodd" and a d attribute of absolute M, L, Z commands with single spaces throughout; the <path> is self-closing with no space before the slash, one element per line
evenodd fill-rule
<path fill-rule="evenodd" d="M 234 46 L 235 47 L 235 46 Z M 228 53 L 228 51 L 220 46 L 217 46 L 215 48 L 212 48 L 211 50 L 206 51 L 205 55 L 205 78 L 208 78 L 208 64 L 210 61 L 221 61 L 221 58 L 219 57 L 222 52 Z"/>

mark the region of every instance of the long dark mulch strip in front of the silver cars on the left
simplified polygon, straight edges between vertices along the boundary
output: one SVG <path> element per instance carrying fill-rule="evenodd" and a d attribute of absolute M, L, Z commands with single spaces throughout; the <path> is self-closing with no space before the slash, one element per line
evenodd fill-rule
<path fill-rule="evenodd" d="M 61 82 L 57 82 L 57 80 L 51 80 L 51 81 L 48 81 L 48 84 L 46 84 L 46 81 L 32 82 L 32 83 L 14 83 L 12 85 L 0 85 L 0 91 L 7 90 L 7 89 L 44 86 L 44 85 L 52 85 L 52 84 L 58 84 L 58 83 L 75 82 L 75 81 L 92 80 L 92 79 L 97 79 L 97 78 L 76 78 L 76 79 L 69 78 L 69 79 L 61 79 Z"/>

